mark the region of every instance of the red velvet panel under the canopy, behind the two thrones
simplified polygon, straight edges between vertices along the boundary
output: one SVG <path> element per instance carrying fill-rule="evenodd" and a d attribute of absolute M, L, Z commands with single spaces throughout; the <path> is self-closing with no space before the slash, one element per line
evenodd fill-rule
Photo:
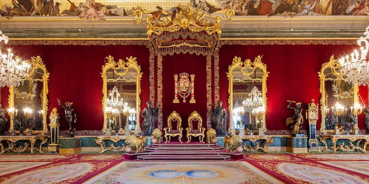
<path fill-rule="evenodd" d="M 174 99 L 174 77 L 181 73 L 195 75 L 194 99 L 196 104 L 189 104 L 191 97 L 178 96 L 179 104 L 173 104 Z M 180 78 L 180 77 L 178 77 Z M 182 127 L 188 126 L 187 119 L 191 112 L 197 111 L 203 119 L 203 127 L 206 127 L 206 57 L 195 54 L 175 54 L 163 56 L 163 127 L 167 125 L 167 118 L 173 110 L 177 111 L 182 118 Z"/>

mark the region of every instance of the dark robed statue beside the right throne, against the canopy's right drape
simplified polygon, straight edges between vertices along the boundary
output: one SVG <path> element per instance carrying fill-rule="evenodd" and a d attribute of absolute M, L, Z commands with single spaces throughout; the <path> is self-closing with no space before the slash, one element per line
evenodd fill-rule
<path fill-rule="evenodd" d="M 218 106 L 212 111 L 212 127 L 217 135 L 227 135 L 227 111 L 222 107 L 223 103 L 218 101 Z"/>

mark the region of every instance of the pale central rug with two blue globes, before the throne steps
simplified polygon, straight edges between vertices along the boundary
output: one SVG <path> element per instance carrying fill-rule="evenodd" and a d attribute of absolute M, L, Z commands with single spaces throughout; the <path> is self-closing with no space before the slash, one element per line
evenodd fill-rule
<path fill-rule="evenodd" d="M 246 162 L 122 162 L 92 184 L 277 184 Z"/>

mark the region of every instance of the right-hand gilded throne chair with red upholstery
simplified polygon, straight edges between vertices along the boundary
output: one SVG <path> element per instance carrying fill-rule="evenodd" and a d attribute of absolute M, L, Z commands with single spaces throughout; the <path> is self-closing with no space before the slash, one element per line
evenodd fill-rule
<path fill-rule="evenodd" d="M 204 142 L 205 128 L 202 126 L 202 118 L 199 113 L 193 111 L 188 117 L 187 143 L 191 142 L 191 137 L 199 137 L 200 142 Z"/>

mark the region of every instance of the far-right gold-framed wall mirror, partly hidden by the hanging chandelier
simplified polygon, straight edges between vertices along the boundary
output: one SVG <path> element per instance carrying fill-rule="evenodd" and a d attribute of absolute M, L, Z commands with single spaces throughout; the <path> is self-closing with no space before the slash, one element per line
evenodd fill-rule
<path fill-rule="evenodd" d="M 333 133 L 336 127 L 343 128 L 346 122 L 352 123 L 354 130 L 358 129 L 357 116 L 351 113 L 351 107 L 358 103 L 359 87 L 347 82 L 339 72 L 339 67 L 338 60 L 332 55 L 318 72 L 322 133 Z"/>

